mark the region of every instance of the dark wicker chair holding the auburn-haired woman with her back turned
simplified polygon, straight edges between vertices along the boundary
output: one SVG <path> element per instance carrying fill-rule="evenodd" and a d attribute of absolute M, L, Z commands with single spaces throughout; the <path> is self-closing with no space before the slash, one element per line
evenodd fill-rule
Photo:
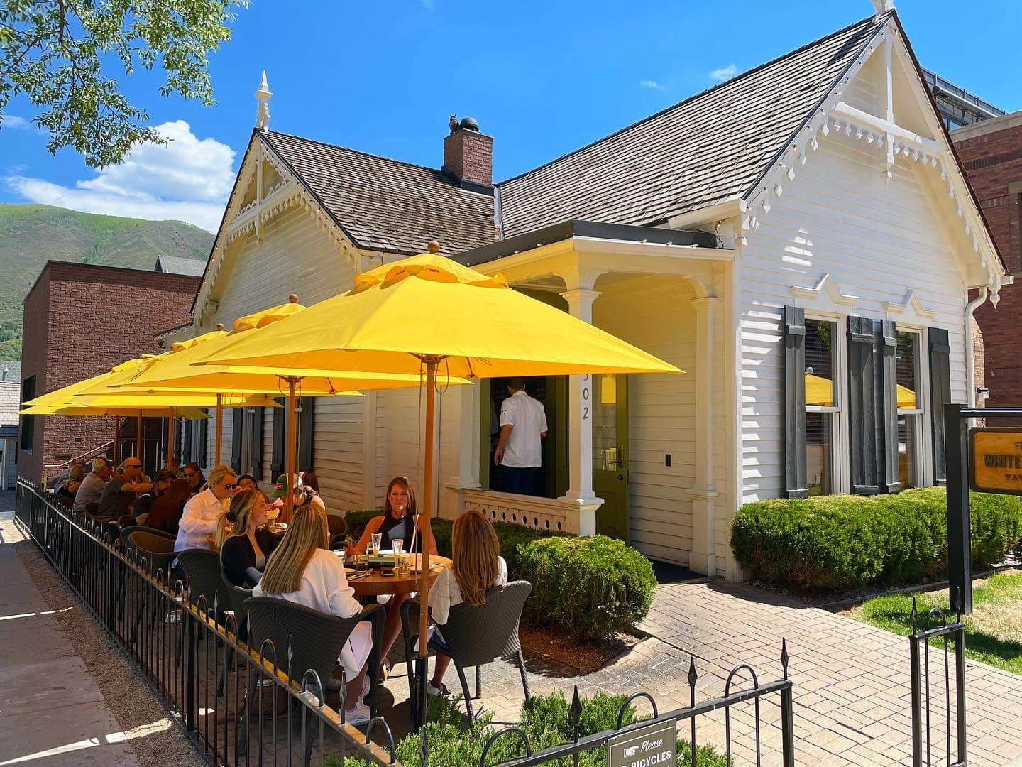
<path fill-rule="evenodd" d="M 514 658 L 521 674 L 521 686 L 528 698 L 528 678 L 525 675 L 525 659 L 521 655 L 521 642 L 518 639 L 518 623 L 525 600 L 532 591 L 532 584 L 527 581 L 513 581 L 506 586 L 492 588 L 486 592 L 486 601 L 477 607 L 461 603 L 451 607 L 443 634 L 446 649 L 430 639 L 428 648 L 443 651 L 450 656 L 458 671 L 462 693 L 465 696 L 465 709 L 469 721 L 472 720 L 472 698 L 468 691 L 468 681 L 465 679 L 465 669 L 475 667 L 475 696 L 481 694 L 482 679 L 479 667 L 503 658 Z M 412 669 L 417 634 L 412 632 L 418 627 L 419 600 L 409 599 L 401 605 L 401 622 L 405 636 L 405 663 L 408 667 L 408 688 L 412 696 L 413 721 L 418 721 L 419 689 L 418 678 Z"/>

